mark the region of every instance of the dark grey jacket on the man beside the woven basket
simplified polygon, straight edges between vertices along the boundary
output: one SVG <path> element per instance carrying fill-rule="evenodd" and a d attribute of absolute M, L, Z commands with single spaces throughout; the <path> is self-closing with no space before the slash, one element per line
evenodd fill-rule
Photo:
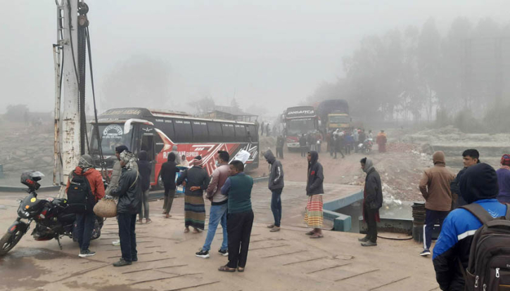
<path fill-rule="evenodd" d="M 130 169 L 122 168 L 119 185 L 112 189 L 111 195 L 119 198 L 117 213 L 139 213 L 141 207 L 141 182 L 138 171 L 134 167 Z"/>

